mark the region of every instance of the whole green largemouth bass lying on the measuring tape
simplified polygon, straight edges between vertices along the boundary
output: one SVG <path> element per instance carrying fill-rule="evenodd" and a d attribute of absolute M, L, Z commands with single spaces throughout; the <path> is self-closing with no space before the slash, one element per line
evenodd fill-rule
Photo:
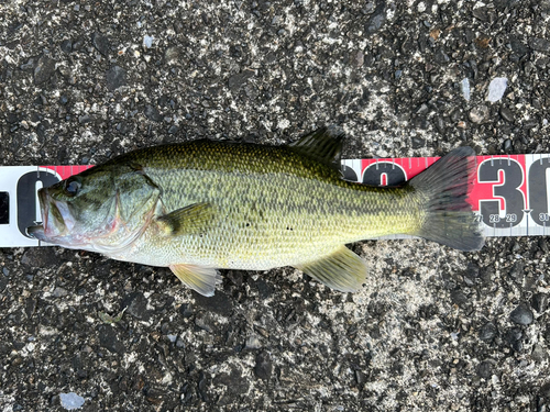
<path fill-rule="evenodd" d="M 38 190 L 29 235 L 113 259 L 168 267 L 213 296 L 219 269 L 292 266 L 354 292 L 366 263 L 345 245 L 407 234 L 460 250 L 484 244 L 466 197 L 474 151 L 459 147 L 400 186 L 342 178 L 343 132 L 288 145 L 196 140 L 140 148 Z"/>

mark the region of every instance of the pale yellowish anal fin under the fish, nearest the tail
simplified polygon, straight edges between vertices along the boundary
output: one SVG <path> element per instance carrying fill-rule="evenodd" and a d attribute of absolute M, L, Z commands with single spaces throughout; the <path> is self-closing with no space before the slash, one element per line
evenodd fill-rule
<path fill-rule="evenodd" d="M 296 268 L 341 292 L 358 291 L 366 278 L 365 263 L 345 246 L 318 260 L 297 265 Z"/>

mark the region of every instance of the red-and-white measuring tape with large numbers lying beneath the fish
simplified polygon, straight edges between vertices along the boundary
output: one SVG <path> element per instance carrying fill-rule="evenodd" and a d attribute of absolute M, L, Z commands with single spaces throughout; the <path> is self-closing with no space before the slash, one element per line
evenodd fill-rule
<path fill-rule="evenodd" d="M 439 157 L 342 160 L 344 179 L 400 185 Z M 36 192 L 92 166 L 0 166 L 0 247 L 40 246 L 26 227 L 41 223 Z M 550 234 L 550 154 L 477 156 L 468 198 L 485 236 Z M 408 236 L 386 236 L 402 238 Z M 43 244 L 43 243 L 42 243 Z M 43 244 L 44 245 L 44 244 Z"/>

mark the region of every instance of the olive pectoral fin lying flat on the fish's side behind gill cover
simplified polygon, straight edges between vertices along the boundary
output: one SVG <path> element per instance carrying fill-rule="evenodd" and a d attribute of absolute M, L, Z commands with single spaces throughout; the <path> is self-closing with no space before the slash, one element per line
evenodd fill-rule
<path fill-rule="evenodd" d="M 194 203 L 160 216 L 157 222 L 170 235 L 199 234 L 208 230 L 213 218 L 210 203 Z"/>

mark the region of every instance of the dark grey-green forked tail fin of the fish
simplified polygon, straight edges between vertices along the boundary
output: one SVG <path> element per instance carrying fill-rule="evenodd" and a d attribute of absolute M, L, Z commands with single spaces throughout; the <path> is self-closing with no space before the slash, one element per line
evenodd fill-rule
<path fill-rule="evenodd" d="M 459 147 L 410 180 L 426 210 L 415 235 L 460 250 L 483 247 L 480 223 L 465 201 L 474 171 L 474 151 Z"/>

